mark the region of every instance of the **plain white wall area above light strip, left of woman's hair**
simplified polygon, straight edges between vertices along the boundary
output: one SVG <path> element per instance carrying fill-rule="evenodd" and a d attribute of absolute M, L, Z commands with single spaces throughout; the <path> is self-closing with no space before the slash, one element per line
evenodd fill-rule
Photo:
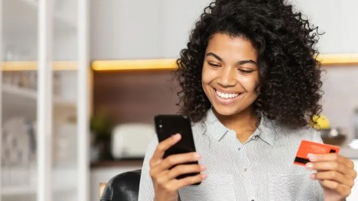
<path fill-rule="evenodd" d="M 172 58 L 210 0 L 91 0 L 91 58 Z"/>

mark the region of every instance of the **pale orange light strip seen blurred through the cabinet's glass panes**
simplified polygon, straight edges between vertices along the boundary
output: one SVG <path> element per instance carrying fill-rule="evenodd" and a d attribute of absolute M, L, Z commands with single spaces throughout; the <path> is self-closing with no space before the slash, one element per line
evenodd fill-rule
<path fill-rule="evenodd" d="M 1 63 L 3 71 L 37 70 L 37 61 L 6 61 Z M 76 70 L 77 62 L 55 61 L 53 70 Z"/>

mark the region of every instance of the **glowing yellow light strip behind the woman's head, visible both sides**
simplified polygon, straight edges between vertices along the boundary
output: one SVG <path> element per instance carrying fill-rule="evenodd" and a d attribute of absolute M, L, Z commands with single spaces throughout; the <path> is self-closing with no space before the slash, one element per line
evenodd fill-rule
<path fill-rule="evenodd" d="M 358 65 L 358 54 L 327 54 L 318 57 L 325 65 Z M 156 70 L 177 69 L 176 59 L 108 60 L 94 61 L 93 70 Z"/>

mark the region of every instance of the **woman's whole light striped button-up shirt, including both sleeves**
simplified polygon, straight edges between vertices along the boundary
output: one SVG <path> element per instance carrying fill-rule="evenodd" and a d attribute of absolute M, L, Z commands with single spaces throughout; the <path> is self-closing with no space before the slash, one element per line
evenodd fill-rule
<path fill-rule="evenodd" d="M 192 125 L 197 152 L 207 178 L 198 186 L 179 189 L 181 201 L 323 201 L 323 189 L 310 179 L 311 170 L 293 164 L 301 140 L 322 142 L 313 128 L 292 130 L 263 117 L 242 144 L 210 109 Z M 139 187 L 139 201 L 154 201 L 149 160 L 158 144 L 148 147 Z"/>

